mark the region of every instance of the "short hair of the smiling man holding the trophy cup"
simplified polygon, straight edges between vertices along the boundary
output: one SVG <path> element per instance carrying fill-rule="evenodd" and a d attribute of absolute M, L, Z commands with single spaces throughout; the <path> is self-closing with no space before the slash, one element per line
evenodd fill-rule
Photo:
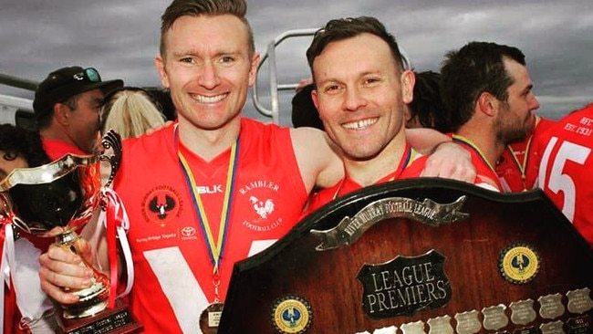
<path fill-rule="evenodd" d="M 161 16 L 161 57 L 165 53 L 165 34 L 173 23 L 182 16 L 236 16 L 247 27 L 249 52 L 255 53 L 254 31 L 245 17 L 247 4 L 244 0 L 173 0 Z"/>

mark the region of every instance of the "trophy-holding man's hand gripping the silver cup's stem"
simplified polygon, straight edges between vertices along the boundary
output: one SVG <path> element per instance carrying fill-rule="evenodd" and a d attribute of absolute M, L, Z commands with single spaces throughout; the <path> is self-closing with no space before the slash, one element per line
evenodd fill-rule
<path fill-rule="evenodd" d="M 39 256 L 41 288 L 60 304 L 78 301 L 78 296 L 69 293 L 68 289 L 91 286 L 93 271 L 84 266 L 81 257 L 90 255 L 90 246 L 83 239 L 79 239 L 78 243 L 78 254 L 58 245 L 50 245 L 47 253 Z"/>

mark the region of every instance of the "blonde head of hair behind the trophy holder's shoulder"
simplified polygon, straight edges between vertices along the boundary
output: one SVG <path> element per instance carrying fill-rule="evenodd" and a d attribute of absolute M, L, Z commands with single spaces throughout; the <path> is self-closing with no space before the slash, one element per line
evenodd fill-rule
<path fill-rule="evenodd" d="M 111 90 L 101 100 L 99 114 L 101 132 L 111 129 L 122 139 L 140 137 L 165 124 L 160 106 L 151 94 L 135 87 Z"/>

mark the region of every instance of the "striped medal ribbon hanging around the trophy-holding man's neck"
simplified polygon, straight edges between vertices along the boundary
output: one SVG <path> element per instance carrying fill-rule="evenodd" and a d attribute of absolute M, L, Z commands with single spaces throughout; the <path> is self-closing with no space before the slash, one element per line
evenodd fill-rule
<path fill-rule="evenodd" d="M 195 179 L 193 178 L 192 169 L 183 157 L 182 151 L 180 151 L 179 149 L 177 150 L 179 162 L 182 167 L 183 174 L 185 175 L 185 181 L 187 182 L 187 185 L 190 188 L 190 193 L 192 194 L 194 211 L 197 215 L 198 223 L 202 228 L 203 235 L 206 237 L 206 245 L 208 247 L 210 260 L 213 264 L 213 275 L 215 279 L 217 279 L 218 277 L 218 267 L 220 265 L 221 258 L 223 257 L 224 244 L 226 241 L 226 232 L 229 225 L 229 218 L 231 216 L 237 158 L 239 157 L 238 153 L 239 139 L 237 138 L 237 141 L 235 141 L 233 146 L 231 146 L 231 157 L 229 159 L 229 168 L 226 176 L 223 212 L 221 214 L 220 227 L 218 230 L 218 240 L 214 241 L 213 233 L 210 229 L 210 223 L 208 222 L 208 216 L 206 215 L 202 199 L 200 198 L 200 193 L 198 193 L 197 184 L 195 183 Z"/>

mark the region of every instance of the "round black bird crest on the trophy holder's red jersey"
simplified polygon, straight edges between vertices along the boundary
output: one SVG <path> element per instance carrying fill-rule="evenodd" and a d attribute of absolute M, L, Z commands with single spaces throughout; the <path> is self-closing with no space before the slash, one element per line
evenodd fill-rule
<path fill-rule="evenodd" d="M 165 226 L 178 217 L 182 203 L 179 195 L 169 186 L 153 188 L 142 199 L 142 215 L 147 222 Z"/>

